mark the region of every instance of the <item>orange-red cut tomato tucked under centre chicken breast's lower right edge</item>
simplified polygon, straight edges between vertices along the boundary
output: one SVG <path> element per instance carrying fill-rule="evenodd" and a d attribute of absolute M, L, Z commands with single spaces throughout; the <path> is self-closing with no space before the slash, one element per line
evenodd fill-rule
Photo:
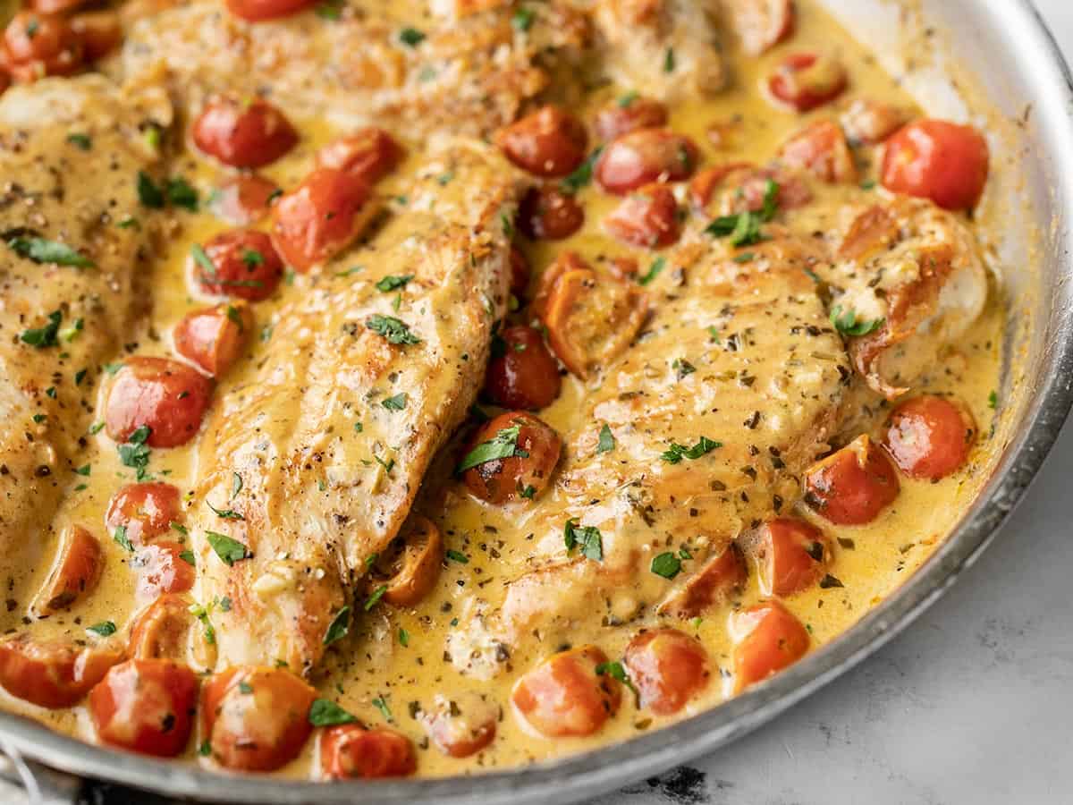
<path fill-rule="evenodd" d="M 440 529 L 428 517 L 411 513 L 388 550 L 377 557 L 370 585 L 383 586 L 383 600 L 393 606 L 413 606 L 436 585 L 442 564 Z"/>

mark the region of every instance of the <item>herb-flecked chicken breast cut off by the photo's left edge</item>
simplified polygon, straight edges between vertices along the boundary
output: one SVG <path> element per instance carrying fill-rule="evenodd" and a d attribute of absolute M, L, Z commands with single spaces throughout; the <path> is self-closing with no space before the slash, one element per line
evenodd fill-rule
<path fill-rule="evenodd" d="M 101 76 L 0 99 L 0 550 L 42 544 L 85 441 L 102 363 L 143 310 L 152 255 L 139 172 L 172 108 Z M 23 565 L 23 562 L 20 562 Z"/>

